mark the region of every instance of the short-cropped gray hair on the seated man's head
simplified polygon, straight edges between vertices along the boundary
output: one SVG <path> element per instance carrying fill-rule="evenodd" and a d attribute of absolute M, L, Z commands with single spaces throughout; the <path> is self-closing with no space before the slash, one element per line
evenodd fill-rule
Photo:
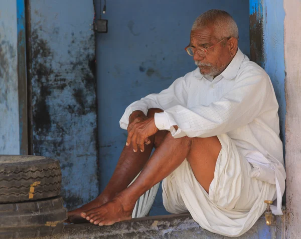
<path fill-rule="evenodd" d="M 226 11 L 211 9 L 198 16 L 192 25 L 192 30 L 212 25 L 215 28 L 216 37 L 235 37 L 238 39 L 238 27 L 233 17 Z"/>

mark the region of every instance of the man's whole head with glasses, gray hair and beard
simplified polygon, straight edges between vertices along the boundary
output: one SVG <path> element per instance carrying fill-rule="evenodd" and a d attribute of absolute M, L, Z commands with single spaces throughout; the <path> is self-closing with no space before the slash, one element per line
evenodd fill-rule
<path fill-rule="evenodd" d="M 220 74 L 238 50 L 238 28 L 232 16 L 218 9 L 201 14 L 193 23 L 187 49 L 203 75 Z"/>

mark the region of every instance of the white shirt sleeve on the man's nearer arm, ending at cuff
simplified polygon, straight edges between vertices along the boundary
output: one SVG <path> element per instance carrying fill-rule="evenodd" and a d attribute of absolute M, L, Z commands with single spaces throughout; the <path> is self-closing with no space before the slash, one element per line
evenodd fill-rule
<path fill-rule="evenodd" d="M 263 111 L 277 106 L 269 77 L 262 70 L 246 72 L 222 98 L 209 105 L 187 108 L 175 105 L 155 114 L 156 126 L 174 137 L 209 137 L 246 125 Z M 179 129 L 174 130 L 173 125 Z"/>

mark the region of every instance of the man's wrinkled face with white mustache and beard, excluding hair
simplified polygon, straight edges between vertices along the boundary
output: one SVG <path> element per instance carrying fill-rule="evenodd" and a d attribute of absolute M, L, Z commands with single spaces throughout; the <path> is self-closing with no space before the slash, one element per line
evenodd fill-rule
<path fill-rule="evenodd" d="M 216 34 L 214 31 L 212 26 L 205 26 L 200 29 L 192 30 L 190 33 L 190 46 L 207 49 L 218 43 L 221 39 L 218 39 L 215 36 Z M 234 39 L 237 41 L 236 38 Z M 198 51 L 195 50 L 193 59 L 204 76 L 219 75 L 231 62 L 236 53 L 236 50 L 234 53 L 231 42 L 229 42 L 231 40 L 233 40 L 233 37 L 230 39 L 225 38 L 220 43 L 209 48 L 206 52 L 206 56 L 201 56 Z"/>

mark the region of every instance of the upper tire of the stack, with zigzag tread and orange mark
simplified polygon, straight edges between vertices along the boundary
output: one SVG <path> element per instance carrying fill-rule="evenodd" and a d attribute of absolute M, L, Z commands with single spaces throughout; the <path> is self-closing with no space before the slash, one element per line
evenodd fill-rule
<path fill-rule="evenodd" d="M 32 155 L 0 155 L 0 203 L 58 196 L 61 181 L 58 160 Z"/>

